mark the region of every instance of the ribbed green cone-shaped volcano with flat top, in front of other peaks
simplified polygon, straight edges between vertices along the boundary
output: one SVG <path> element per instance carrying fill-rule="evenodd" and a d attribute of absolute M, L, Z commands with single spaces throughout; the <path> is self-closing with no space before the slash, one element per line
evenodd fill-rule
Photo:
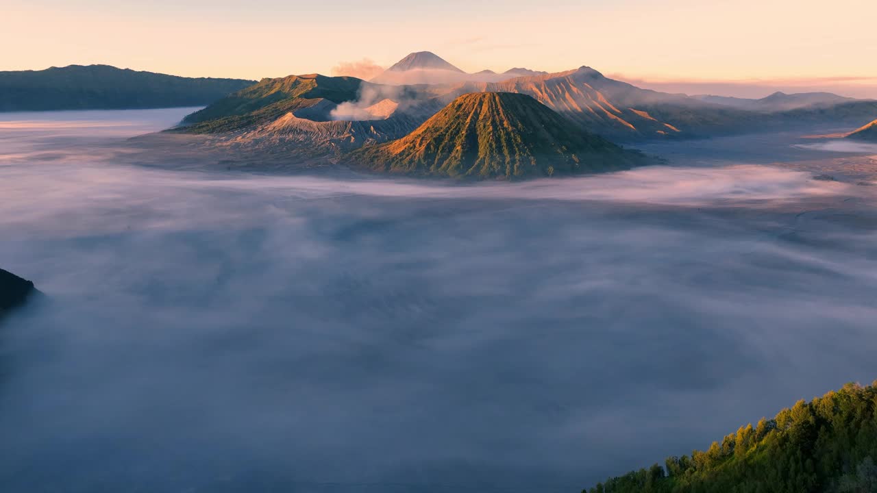
<path fill-rule="evenodd" d="M 374 171 L 478 179 L 578 175 L 646 162 L 531 96 L 503 92 L 460 96 L 409 135 L 363 147 L 349 160 Z"/>

